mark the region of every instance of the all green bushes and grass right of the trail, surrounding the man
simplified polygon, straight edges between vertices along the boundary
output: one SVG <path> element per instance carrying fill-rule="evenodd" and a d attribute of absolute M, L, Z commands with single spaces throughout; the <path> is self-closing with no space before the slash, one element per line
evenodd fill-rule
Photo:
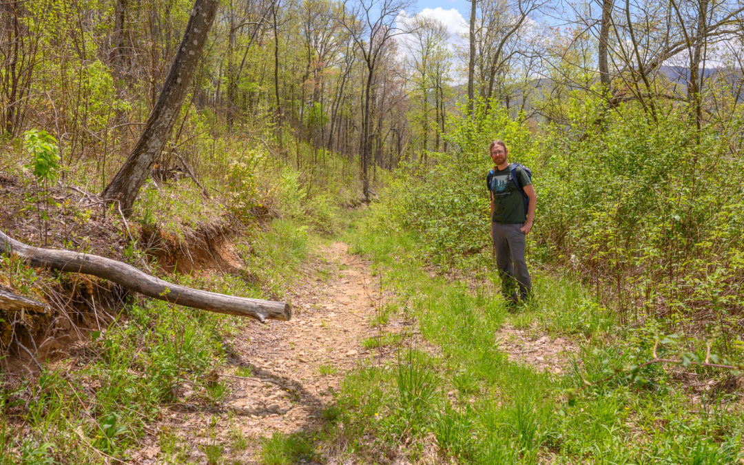
<path fill-rule="evenodd" d="M 539 132 L 498 106 L 452 121 L 455 150 L 397 170 L 350 235 L 424 339 L 399 344 L 396 362 L 347 376 L 339 434 L 353 454 L 742 459 L 740 119 L 696 130 L 684 107 L 650 121 L 586 95 L 565 109 L 566 121 Z M 490 256 L 484 147 L 496 138 L 533 170 L 538 193 L 527 237 L 535 296 L 515 312 L 498 296 Z M 440 277 L 423 272 L 430 263 Z M 513 344 L 546 334 L 576 350 L 558 370 L 525 365 L 502 347 L 514 330 L 525 336 Z"/>

